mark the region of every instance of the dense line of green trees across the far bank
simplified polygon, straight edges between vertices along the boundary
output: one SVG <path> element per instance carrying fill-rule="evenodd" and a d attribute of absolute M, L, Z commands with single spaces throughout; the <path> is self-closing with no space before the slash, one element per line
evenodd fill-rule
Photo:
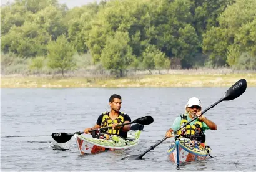
<path fill-rule="evenodd" d="M 1 52 L 62 74 L 77 69 L 74 54 L 86 53 L 121 77 L 127 69 L 256 69 L 255 6 L 255 0 L 114 0 L 68 9 L 57 0 L 16 0 L 1 6 Z"/>

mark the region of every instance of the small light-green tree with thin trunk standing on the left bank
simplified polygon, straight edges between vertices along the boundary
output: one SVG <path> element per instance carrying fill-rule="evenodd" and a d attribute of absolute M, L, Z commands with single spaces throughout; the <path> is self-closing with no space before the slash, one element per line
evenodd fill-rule
<path fill-rule="evenodd" d="M 61 71 L 62 76 L 64 76 L 64 72 L 73 70 L 76 67 L 76 62 L 73 59 L 75 50 L 66 36 L 61 35 L 56 41 L 49 42 L 47 48 L 49 68 Z"/>

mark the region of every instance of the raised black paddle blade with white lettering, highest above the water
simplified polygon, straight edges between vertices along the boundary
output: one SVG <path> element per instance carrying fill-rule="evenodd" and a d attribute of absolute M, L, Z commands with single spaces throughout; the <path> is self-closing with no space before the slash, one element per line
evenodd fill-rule
<path fill-rule="evenodd" d="M 234 100 L 235 98 L 242 95 L 247 88 L 247 82 L 245 79 L 240 79 L 234 85 L 232 85 L 223 96 L 223 100 Z"/>

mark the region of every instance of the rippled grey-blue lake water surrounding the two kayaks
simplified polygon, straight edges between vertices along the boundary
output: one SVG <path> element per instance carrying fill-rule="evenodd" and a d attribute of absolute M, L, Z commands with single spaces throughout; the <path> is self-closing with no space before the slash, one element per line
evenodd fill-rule
<path fill-rule="evenodd" d="M 231 86 L 231 85 L 230 85 Z M 144 160 L 121 160 L 143 153 L 162 140 L 190 97 L 203 109 L 217 102 L 228 88 L 21 88 L 1 89 L 1 171 L 256 171 L 256 88 L 205 113 L 218 125 L 207 130 L 212 156 L 180 166 L 167 160 L 172 138 L 144 155 Z M 79 156 L 74 137 L 70 149 L 54 149 L 51 134 L 74 133 L 92 127 L 109 110 L 109 96 L 122 96 L 122 112 L 132 120 L 151 115 L 139 145 L 122 151 Z"/>

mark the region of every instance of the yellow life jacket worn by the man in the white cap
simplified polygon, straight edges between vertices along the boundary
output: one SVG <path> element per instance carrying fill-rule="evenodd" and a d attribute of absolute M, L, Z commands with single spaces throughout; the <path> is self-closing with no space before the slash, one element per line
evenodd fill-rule
<path fill-rule="evenodd" d="M 180 127 L 187 123 L 187 113 L 180 115 L 181 122 Z M 202 122 L 197 121 L 193 125 L 186 125 L 184 128 L 178 131 L 178 135 L 181 136 L 191 136 L 191 135 L 200 135 L 202 133 Z"/>

